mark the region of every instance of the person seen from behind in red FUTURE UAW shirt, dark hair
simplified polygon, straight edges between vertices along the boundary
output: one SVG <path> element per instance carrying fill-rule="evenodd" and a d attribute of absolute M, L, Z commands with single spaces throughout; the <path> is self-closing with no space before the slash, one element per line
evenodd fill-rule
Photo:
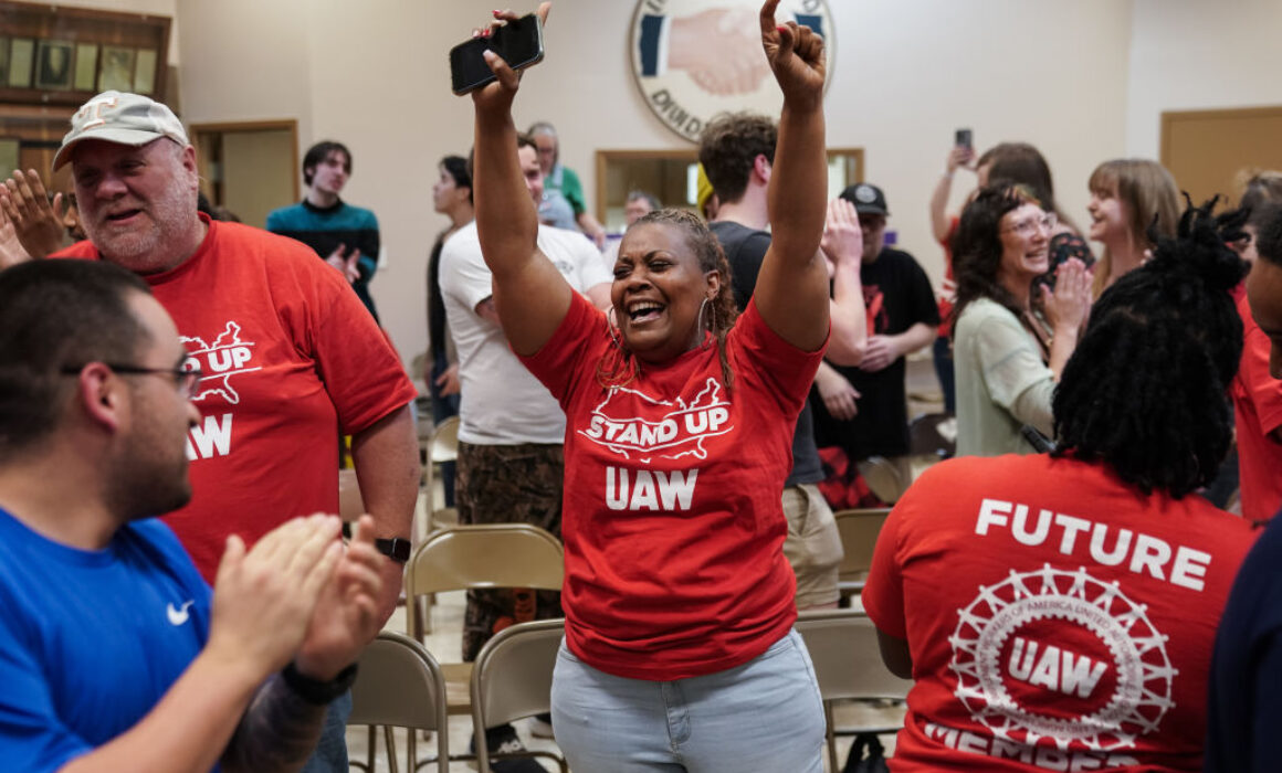
<path fill-rule="evenodd" d="M 1190 206 L 1091 309 L 1058 449 L 944 461 L 896 504 L 863 594 L 915 679 L 891 770 L 1201 769 L 1215 624 L 1254 538 L 1195 494 L 1232 437 L 1244 273 Z"/>

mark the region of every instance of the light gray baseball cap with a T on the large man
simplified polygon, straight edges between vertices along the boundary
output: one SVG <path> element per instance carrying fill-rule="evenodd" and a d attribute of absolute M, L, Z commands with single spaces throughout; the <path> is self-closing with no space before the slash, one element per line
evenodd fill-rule
<path fill-rule="evenodd" d="M 63 137 L 63 145 L 54 155 L 54 170 L 72 159 L 72 147 L 81 140 L 138 147 L 160 137 L 191 145 L 182 122 L 165 105 L 138 94 L 104 91 L 72 115 L 72 131 Z"/>

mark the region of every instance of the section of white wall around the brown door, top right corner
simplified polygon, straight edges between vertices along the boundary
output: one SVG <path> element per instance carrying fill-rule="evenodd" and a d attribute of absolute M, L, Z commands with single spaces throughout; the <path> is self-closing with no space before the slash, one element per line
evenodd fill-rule
<path fill-rule="evenodd" d="M 1135 0 L 1133 18 L 1128 155 L 1158 158 L 1164 110 L 1282 105 L 1282 3 Z"/>

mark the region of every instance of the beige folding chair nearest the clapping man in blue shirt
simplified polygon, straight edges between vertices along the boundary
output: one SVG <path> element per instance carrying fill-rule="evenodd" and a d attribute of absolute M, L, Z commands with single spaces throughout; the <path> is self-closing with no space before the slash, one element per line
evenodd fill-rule
<path fill-rule="evenodd" d="M 356 682 L 351 686 L 351 717 L 347 724 L 369 726 L 369 747 L 364 763 L 351 765 L 374 773 L 377 728 L 383 728 L 387 768 L 397 772 L 392 727 L 436 731 L 436 767 L 450 769 L 449 728 L 445 714 L 445 677 L 441 667 L 423 645 L 408 636 L 383 631 L 360 654 Z M 409 773 L 414 773 L 414 745 L 409 744 Z"/>

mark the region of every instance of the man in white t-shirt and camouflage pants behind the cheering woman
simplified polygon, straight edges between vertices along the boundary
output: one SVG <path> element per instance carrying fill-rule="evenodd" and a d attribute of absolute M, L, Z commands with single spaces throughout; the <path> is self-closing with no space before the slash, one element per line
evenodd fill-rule
<path fill-rule="evenodd" d="M 544 190 L 538 149 L 524 136 L 517 144 L 526 187 L 537 205 Z M 609 306 L 610 273 L 582 233 L 540 226 L 538 249 L 594 305 Z M 441 247 L 440 283 L 462 385 L 455 478 L 459 523 L 532 523 L 560 537 L 565 415 L 508 346 L 474 220 Z M 532 591 L 469 591 L 463 659 L 474 660 L 481 646 L 513 622 L 562 617 L 560 594 L 540 591 L 535 596 Z M 510 751 L 512 744 L 519 744 L 512 726 L 491 728 L 487 735 L 492 750 Z"/>

